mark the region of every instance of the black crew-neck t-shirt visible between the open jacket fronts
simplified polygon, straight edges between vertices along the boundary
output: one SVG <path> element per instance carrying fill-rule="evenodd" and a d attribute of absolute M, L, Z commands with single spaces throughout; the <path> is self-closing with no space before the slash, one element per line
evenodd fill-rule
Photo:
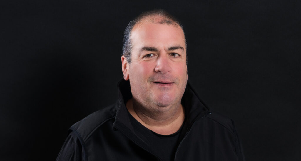
<path fill-rule="evenodd" d="M 186 119 L 176 133 L 161 135 L 143 126 L 129 112 L 128 114 L 136 135 L 151 147 L 154 155 L 158 156 L 163 161 L 174 160 L 177 147 L 184 136 L 182 131 L 185 130 L 182 129 Z"/>

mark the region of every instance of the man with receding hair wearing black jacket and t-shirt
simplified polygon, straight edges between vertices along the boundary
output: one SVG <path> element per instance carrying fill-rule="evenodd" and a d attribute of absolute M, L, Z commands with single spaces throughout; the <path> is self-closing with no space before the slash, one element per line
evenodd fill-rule
<path fill-rule="evenodd" d="M 186 48 L 165 11 L 131 21 L 119 100 L 74 124 L 57 160 L 244 160 L 233 121 L 187 84 Z"/>

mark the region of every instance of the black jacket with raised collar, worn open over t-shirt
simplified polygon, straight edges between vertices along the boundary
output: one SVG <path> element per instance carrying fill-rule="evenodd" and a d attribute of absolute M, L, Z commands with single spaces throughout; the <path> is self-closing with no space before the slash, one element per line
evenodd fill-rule
<path fill-rule="evenodd" d="M 119 99 L 115 104 L 71 126 L 57 161 L 161 160 L 131 125 L 125 106 L 132 97 L 129 81 L 120 81 L 118 88 Z M 181 103 L 188 127 L 183 129 L 186 133 L 177 147 L 176 161 L 244 160 L 233 120 L 209 111 L 189 82 Z"/>

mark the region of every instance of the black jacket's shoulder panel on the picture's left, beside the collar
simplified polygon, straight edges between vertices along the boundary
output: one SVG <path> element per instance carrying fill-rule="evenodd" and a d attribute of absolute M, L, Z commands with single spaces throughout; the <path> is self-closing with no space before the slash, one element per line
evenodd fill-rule
<path fill-rule="evenodd" d="M 86 140 L 97 128 L 116 115 L 115 104 L 102 108 L 70 127 L 69 132 L 76 133 L 81 140 Z"/>

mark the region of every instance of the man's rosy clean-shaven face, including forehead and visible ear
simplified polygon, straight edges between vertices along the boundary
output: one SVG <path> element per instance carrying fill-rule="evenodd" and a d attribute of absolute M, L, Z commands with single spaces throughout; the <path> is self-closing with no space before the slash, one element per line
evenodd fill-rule
<path fill-rule="evenodd" d="M 181 102 L 187 84 L 184 33 L 178 25 L 143 22 L 131 34 L 132 60 L 123 60 L 133 98 L 144 107 Z"/>

